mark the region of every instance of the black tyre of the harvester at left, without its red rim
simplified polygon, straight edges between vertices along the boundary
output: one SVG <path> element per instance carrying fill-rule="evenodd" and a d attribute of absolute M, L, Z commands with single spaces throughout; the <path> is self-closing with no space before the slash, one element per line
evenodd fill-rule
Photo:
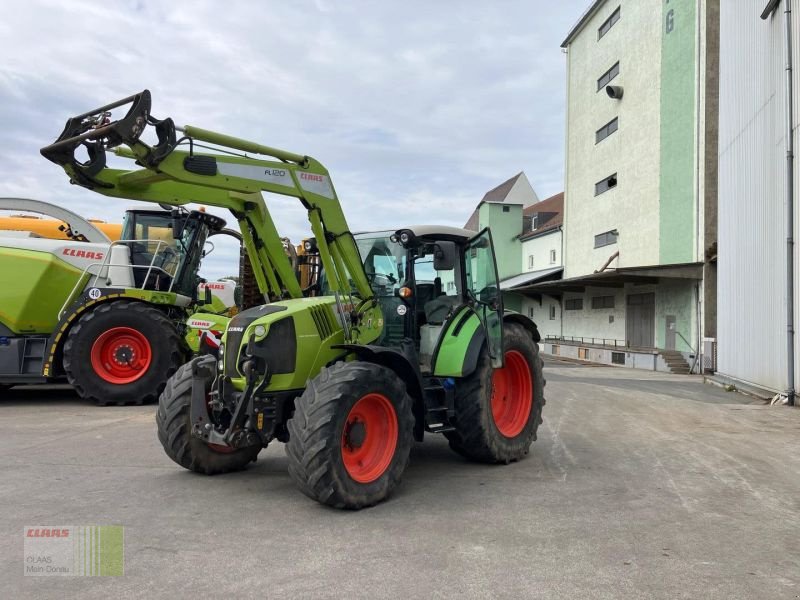
<path fill-rule="evenodd" d="M 92 365 L 92 348 L 105 332 L 124 327 L 135 330 L 149 344 L 151 360 L 144 374 L 129 383 L 114 383 Z M 144 302 L 112 300 L 78 319 L 64 344 L 64 371 L 81 398 L 100 406 L 155 402 L 167 379 L 183 364 L 188 349 L 174 323 Z"/>

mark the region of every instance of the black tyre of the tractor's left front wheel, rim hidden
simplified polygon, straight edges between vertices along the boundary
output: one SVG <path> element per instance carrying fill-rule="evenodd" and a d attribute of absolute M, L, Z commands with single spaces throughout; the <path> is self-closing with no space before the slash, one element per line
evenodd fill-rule
<path fill-rule="evenodd" d="M 220 452 L 191 434 L 189 409 L 192 402 L 192 365 L 197 361 L 216 363 L 213 356 L 200 356 L 183 365 L 170 377 L 158 399 L 158 440 L 167 456 L 184 469 L 204 475 L 241 471 L 256 460 L 261 446 Z M 207 391 L 211 389 L 210 380 L 206 382 L 206 388 Z"/>

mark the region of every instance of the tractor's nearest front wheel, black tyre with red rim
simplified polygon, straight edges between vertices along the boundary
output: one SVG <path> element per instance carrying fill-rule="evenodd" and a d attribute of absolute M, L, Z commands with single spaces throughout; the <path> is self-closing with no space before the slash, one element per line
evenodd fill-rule
<path fill-rule="evenodd" d="M 367 362 L 322 369 L 295 400 L 289 474 L 306 496 L 336 508 L 385 500 L 408 464 L 411 406 L 391 369 Z"/>

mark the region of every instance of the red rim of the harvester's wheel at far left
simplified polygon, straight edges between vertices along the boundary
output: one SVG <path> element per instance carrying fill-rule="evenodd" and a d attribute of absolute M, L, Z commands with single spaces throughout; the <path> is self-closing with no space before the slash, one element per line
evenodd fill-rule
<path fill-rule="evenodd" d="M 92 368 L 103 380 L 124 385 L 142 377 L 153 360 L 150 342 L 130 327 L 113 327 L 92 345 Z"/>

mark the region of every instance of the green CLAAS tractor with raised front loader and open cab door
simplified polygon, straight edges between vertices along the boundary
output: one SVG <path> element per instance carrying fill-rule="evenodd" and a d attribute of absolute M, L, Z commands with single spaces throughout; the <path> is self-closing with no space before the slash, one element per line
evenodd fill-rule
<path fill-rule="evenodd" d="M 141 139 L 148 125 L 152 144 Z M 75 159 L 80 146 L 88 162 Z M 477 461 L 528 453 L 544 406 L 539 333 L 503 310 L 490 231 L 417 226 L 355 236 L 319 162 L 157 120 L 147 90 L 71 119 L 42 152 L 98 193 L 198 201 L 239 222 L 272 301 L 236 315 L 219 357 L 183 365 L 161 394 L 158 436 L 182 467 L 239 470 L 278 440 L 303 493 L 358 509 L 391 494 L 425 432 Z M 106 166 L 107 152 L 138 168 Z M 296 197 L 308 212 L 306 249 L 315 246 L 322 276 L 306 289 L 263 191 Z"/>

